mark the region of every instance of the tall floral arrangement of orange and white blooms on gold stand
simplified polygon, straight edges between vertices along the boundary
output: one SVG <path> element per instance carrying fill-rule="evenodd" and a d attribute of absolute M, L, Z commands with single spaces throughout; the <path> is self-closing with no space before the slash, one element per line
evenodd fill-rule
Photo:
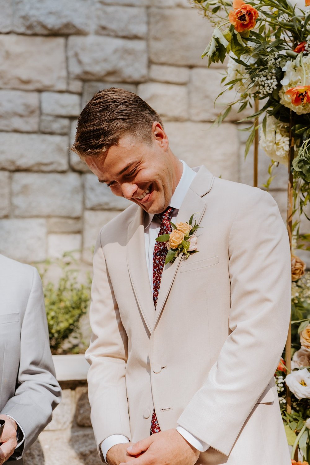
<path fill-rule="evenodd" d="M 288 232 L 292 250 L 310 251 L 310 234 L 300 220 L 310 220 L 310 0 L 300 8 L 287 0 L 191 0 L 213 24 L 203 57 L 209 66 L 227 60 L 223 95 L 235 90 L 215 120 L 221 124 L 237 107 L 247 112 L 249 137 L 245 157 L 260 133 L 259 145 L 270 157 L 265 187 L 281 163 L 288 169 Z M 219 97 L 218 96 L 218 97 Z M 285 186 L 286 187 L 286 186 Z M 291 205 L 291 207 L 290 207 Z M 293 220 L 292 220 L 293 218 Z M 310 273 L 292 253 L 291 340 L 275 373 L 292 464 L 297 451 L 310 463 Z M 290 354 L 292 359 L 290 359 Z M 291 366 L 289 366 L 291 365 Z"/>

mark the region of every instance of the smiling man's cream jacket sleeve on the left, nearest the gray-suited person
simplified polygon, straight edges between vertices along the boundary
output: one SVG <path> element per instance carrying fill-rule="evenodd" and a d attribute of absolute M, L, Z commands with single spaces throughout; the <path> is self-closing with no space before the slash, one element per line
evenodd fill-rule
<path fill-rule="evenodd" d="M 100 235 L 93 259 L 92 338 L 86 351 L 92 427 L 103 460 L 100 443 L 113 434 L 131 439 L 125 385 L 128 339 L 112 289 Z"/>

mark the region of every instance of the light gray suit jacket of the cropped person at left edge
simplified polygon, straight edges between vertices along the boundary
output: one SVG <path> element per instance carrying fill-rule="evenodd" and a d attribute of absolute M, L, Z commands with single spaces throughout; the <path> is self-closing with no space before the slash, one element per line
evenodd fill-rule
<path fill-rule="evenodd" d="M 0 255 L 0 412 L 10 415 L 25 440 L 22 455 L 52 419 L 61 390 L 49 347 L 44 297 L 35 268 Z"/>

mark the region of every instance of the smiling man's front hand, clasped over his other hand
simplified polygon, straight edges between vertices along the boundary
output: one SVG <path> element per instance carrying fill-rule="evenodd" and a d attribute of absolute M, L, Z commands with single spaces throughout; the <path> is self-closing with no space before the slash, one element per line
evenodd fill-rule
<path fill-rule="evenodd" d="M 153 434 L 136 444 L 125 446 L 126 457 L 119 465 L 131 461 L 134 461 L 134 465 L 194 465 L 200 454 L 176 429 Z"/>

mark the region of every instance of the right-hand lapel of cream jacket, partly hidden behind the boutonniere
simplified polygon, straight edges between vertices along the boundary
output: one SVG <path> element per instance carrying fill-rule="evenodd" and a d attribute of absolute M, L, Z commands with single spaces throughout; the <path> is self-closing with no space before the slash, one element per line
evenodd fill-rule
<path fill-rule="evenodd" d="M 195 215 L 196 223 L 200 223 L 206 208 L 206 202 L 202 196 L 210 191 L 213 180 L 214 176 L 204 166 L 201 166 L 178 211 L 176 223 L 189 221 L 193 213 L 197 213 Z M 164 267 L 159 287 L 154 327 L 163 311 L 182 257 L 183 255 L 179 254 L 174 263 L 169 263 Z"/>

